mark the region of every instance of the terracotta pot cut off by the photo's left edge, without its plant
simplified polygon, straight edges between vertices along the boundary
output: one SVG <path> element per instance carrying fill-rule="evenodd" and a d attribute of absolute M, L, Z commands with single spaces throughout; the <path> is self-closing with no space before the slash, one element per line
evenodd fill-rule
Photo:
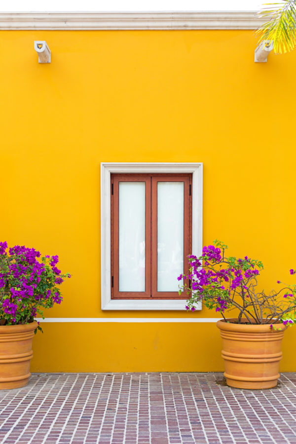
<path fill-rule="evenodd" d="M 0 390 L 28 384 L 36 328 L 37 322 L 0 326 Z"/>

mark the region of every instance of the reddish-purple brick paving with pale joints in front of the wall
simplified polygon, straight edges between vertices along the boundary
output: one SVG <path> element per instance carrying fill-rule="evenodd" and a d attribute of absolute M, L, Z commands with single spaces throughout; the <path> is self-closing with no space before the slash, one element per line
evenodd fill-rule
<path fill-rule="evenodd" d="M 296 373 L 262 391 L 222 381 L 222 373 L 36 373 L 27 387 L 0 391 L 0 443 L 296 443 Z"/>

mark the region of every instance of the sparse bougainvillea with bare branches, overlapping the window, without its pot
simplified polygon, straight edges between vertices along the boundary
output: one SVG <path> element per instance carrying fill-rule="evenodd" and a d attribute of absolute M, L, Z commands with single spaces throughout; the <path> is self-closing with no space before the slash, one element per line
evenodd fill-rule
<path fill-rule="evenodd" d="M 190 296 L 186 310 L 196 310 L 196 304 L 203 301 L 206 307 L 221 313 L 225 321 L 224 313 L 236 309 L 238 324 L 270 324 L 276 330 L 274 324 L 279 322 L 289 326 L 296 323 L 296 284 L 282 286 L 269 294 L 258 291 L 262 262 L 247 256 L 226 257 L 226 249 L 227 245 L 215 240 L 214 245 L 203 247 L 200 257 L 188 256 L 189 272 L 178 277 L 179 281 L 189 282 L 180 285 L 179 290 L 180 294 L 184 290 Z M 296 270 L 291 269 L 290 274 L 296 274 Z"/>

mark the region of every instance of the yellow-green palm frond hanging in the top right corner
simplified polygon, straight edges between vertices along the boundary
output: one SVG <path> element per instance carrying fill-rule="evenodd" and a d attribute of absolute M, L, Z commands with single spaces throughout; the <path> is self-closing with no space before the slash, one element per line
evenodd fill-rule
<path fill-rule="evenodd" d="M 260 43 L 273 40 L 275 53 L 290 52 L 296 46 L 296 0 L 282 0 L 281 3 L 266 3 L 270 6 L 259 12 L 267 21 L 261 25 L 256 34 Z"/>

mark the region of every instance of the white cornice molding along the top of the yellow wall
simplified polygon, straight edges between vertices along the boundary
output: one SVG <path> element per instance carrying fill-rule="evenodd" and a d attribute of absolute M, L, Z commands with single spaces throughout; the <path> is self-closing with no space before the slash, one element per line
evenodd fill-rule
<path fill-rule="evenodd" d="M 1 12 L 0 30 L 256 29 L 257 11 Z"/>

